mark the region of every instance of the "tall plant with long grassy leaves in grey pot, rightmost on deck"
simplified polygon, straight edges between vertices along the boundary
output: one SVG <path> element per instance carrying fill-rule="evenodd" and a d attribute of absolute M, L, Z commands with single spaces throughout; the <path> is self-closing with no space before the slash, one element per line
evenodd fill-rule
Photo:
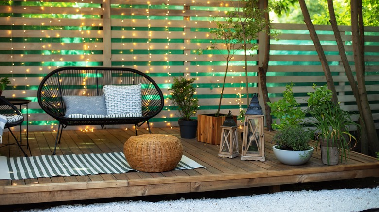
<path fill-rule="evenodd" d="M 308 112 L 313 117 L 311 124 L 317 133 L 317 145 L 320 144 L 323 164 L 336 165 L 339 158 L 347 160 L 347 154 L 353 148 L 357 139 L 350 133 L 350 127 L 359 124 L 351 119 L 351 115 L 343 110 L 340 103 L 332 101 L 332 91 L 327 85 L 317 87 L 313 84 L 313 93 L 307 93 Z M 340 157 L 341 151 L 341 157 Z"/>

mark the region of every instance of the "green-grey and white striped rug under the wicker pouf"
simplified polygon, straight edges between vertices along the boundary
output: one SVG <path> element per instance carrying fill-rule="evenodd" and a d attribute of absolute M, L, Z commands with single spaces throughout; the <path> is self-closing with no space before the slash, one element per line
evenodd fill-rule
<path fill-rule="evenodd" d="M 205 168 L 183 155 L 175 170 Z M 30 157 L 0 156 L 0 179 L 119 174 L 132 171 L 122 152 L 103 154 L 42 155 Z"/>

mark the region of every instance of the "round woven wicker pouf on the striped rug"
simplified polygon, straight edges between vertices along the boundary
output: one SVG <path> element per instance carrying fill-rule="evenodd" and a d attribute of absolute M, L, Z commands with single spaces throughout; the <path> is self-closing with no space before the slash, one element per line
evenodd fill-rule
<path fill-rule="evenodd" d="M 179 139 L 171 135 L 142 134 L 131 136 L 124 144 L 130 167 L 143 172 L 171 171 L 183 155 Z"/>

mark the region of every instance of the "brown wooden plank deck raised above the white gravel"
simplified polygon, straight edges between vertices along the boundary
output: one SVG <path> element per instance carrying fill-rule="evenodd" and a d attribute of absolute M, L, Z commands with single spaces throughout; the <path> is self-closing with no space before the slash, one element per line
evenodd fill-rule
<path fill-rule="evenodd" d="M 153 133 L 179 136 L 178 128 L 153 128 Z M 139 134 L 148 133 L 139 129 Z M 94 132 L 64 130 L 57 154 L 121 152 L 133 130 L 103 129 Z M 0 180 L 0 205 L 135 197 L 215 191 L 236 188 L 272 186 L 299 182 L 320 182 L 352 178 L 379 177 L 379 160 L 350 152 L 347 162 L 336 166 L 321 163 L 320 150 L 302 166 L 287 166 L 278 162 L 270 143 L 273 132 L 265 132 L 266 161 L 241 161 L 217 156 L 219 146 L 181 139 L 184 154 L 206 168 L 173 170 L 162 173 L 128 172 L 125 174 L 99 174 L 37 178 L 26 180 Z M 9 139 L 4 132 L 3 142 Z M 241 139 L 241 138 L 239 138 Z M 32 154 L 52 154 L 55 133 L 29 132 Z M 241 148 L 241 145 L 240 145 Z M 241 151 L 240 151 L 241 152 Z M 0 155 L 17 157 L 17 146 L 0 148 Z"/>

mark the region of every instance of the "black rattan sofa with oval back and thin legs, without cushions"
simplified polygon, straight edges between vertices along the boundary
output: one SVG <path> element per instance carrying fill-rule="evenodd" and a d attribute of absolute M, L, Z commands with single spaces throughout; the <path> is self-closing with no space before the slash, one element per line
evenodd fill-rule
<path fill-rule="evenodd" d="M 104 94 L 105 85 L 139 85 L 141 87 L 141 116 L 137 117 L 67 117 L 64 97 L 98 97 Z M 105 94 L 104 94 L 105 95 Z M 59 121 L 53 154 L 60 143 L 63 128 L 72 125 L 134 124 L 141 126 L 156 116 L 164 106 L 162 91 L 152 78 L 132 69 L 119 67 L 62 67 L 49 73 L 39 85 L 37 93 L 41 108 Z M 116 97 L 117 98 L 117 97 Z M 82 105 L 82 103 L 80 103 Z M 124 101 L 123 104 L 128 104 Z M 82 105 L 85 106 L 85 105 Z M 88 107 L 93 107 L 89 105 Z"/>

